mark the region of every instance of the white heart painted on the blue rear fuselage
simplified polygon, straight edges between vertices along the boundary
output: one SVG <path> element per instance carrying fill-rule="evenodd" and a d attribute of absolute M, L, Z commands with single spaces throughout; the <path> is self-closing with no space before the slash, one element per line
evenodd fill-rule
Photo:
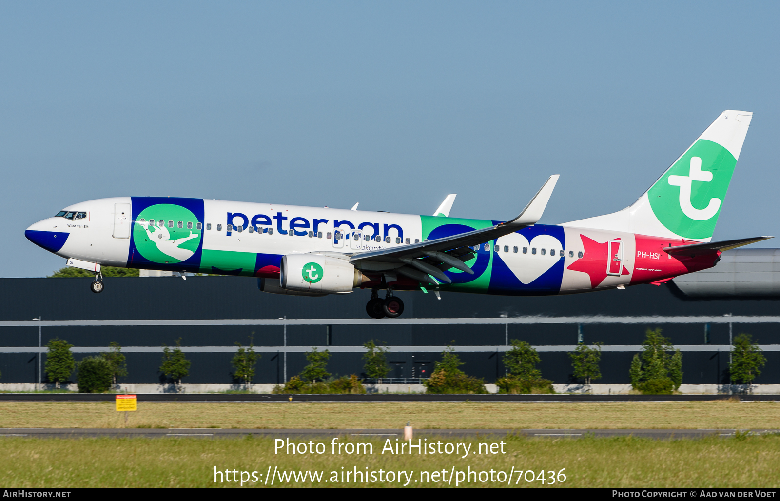
<path fill-rule="evenodd" d="M 509 233 L 498 239 L 502 260 L 509 266 L 517 279 L 524 283 L 534 282 L 548 269 L 558 262 L 558 253 L 563 246 L 555 236 L 542 234 L 534 236 L 530 243 L 520 233 Z M 504 246 L 509 247 L 509 252 L 504 252 Z M 517 252 L 514 252 L 517 247 Z M 523 254 L 523 247 L 527 247 L 527 254 Z M 536 254 L 532 254 L 536 249 Z M 544 255 L 541 254 L 544 249 Z M 553 255 L 551 254 L 551 251 Z"/>

